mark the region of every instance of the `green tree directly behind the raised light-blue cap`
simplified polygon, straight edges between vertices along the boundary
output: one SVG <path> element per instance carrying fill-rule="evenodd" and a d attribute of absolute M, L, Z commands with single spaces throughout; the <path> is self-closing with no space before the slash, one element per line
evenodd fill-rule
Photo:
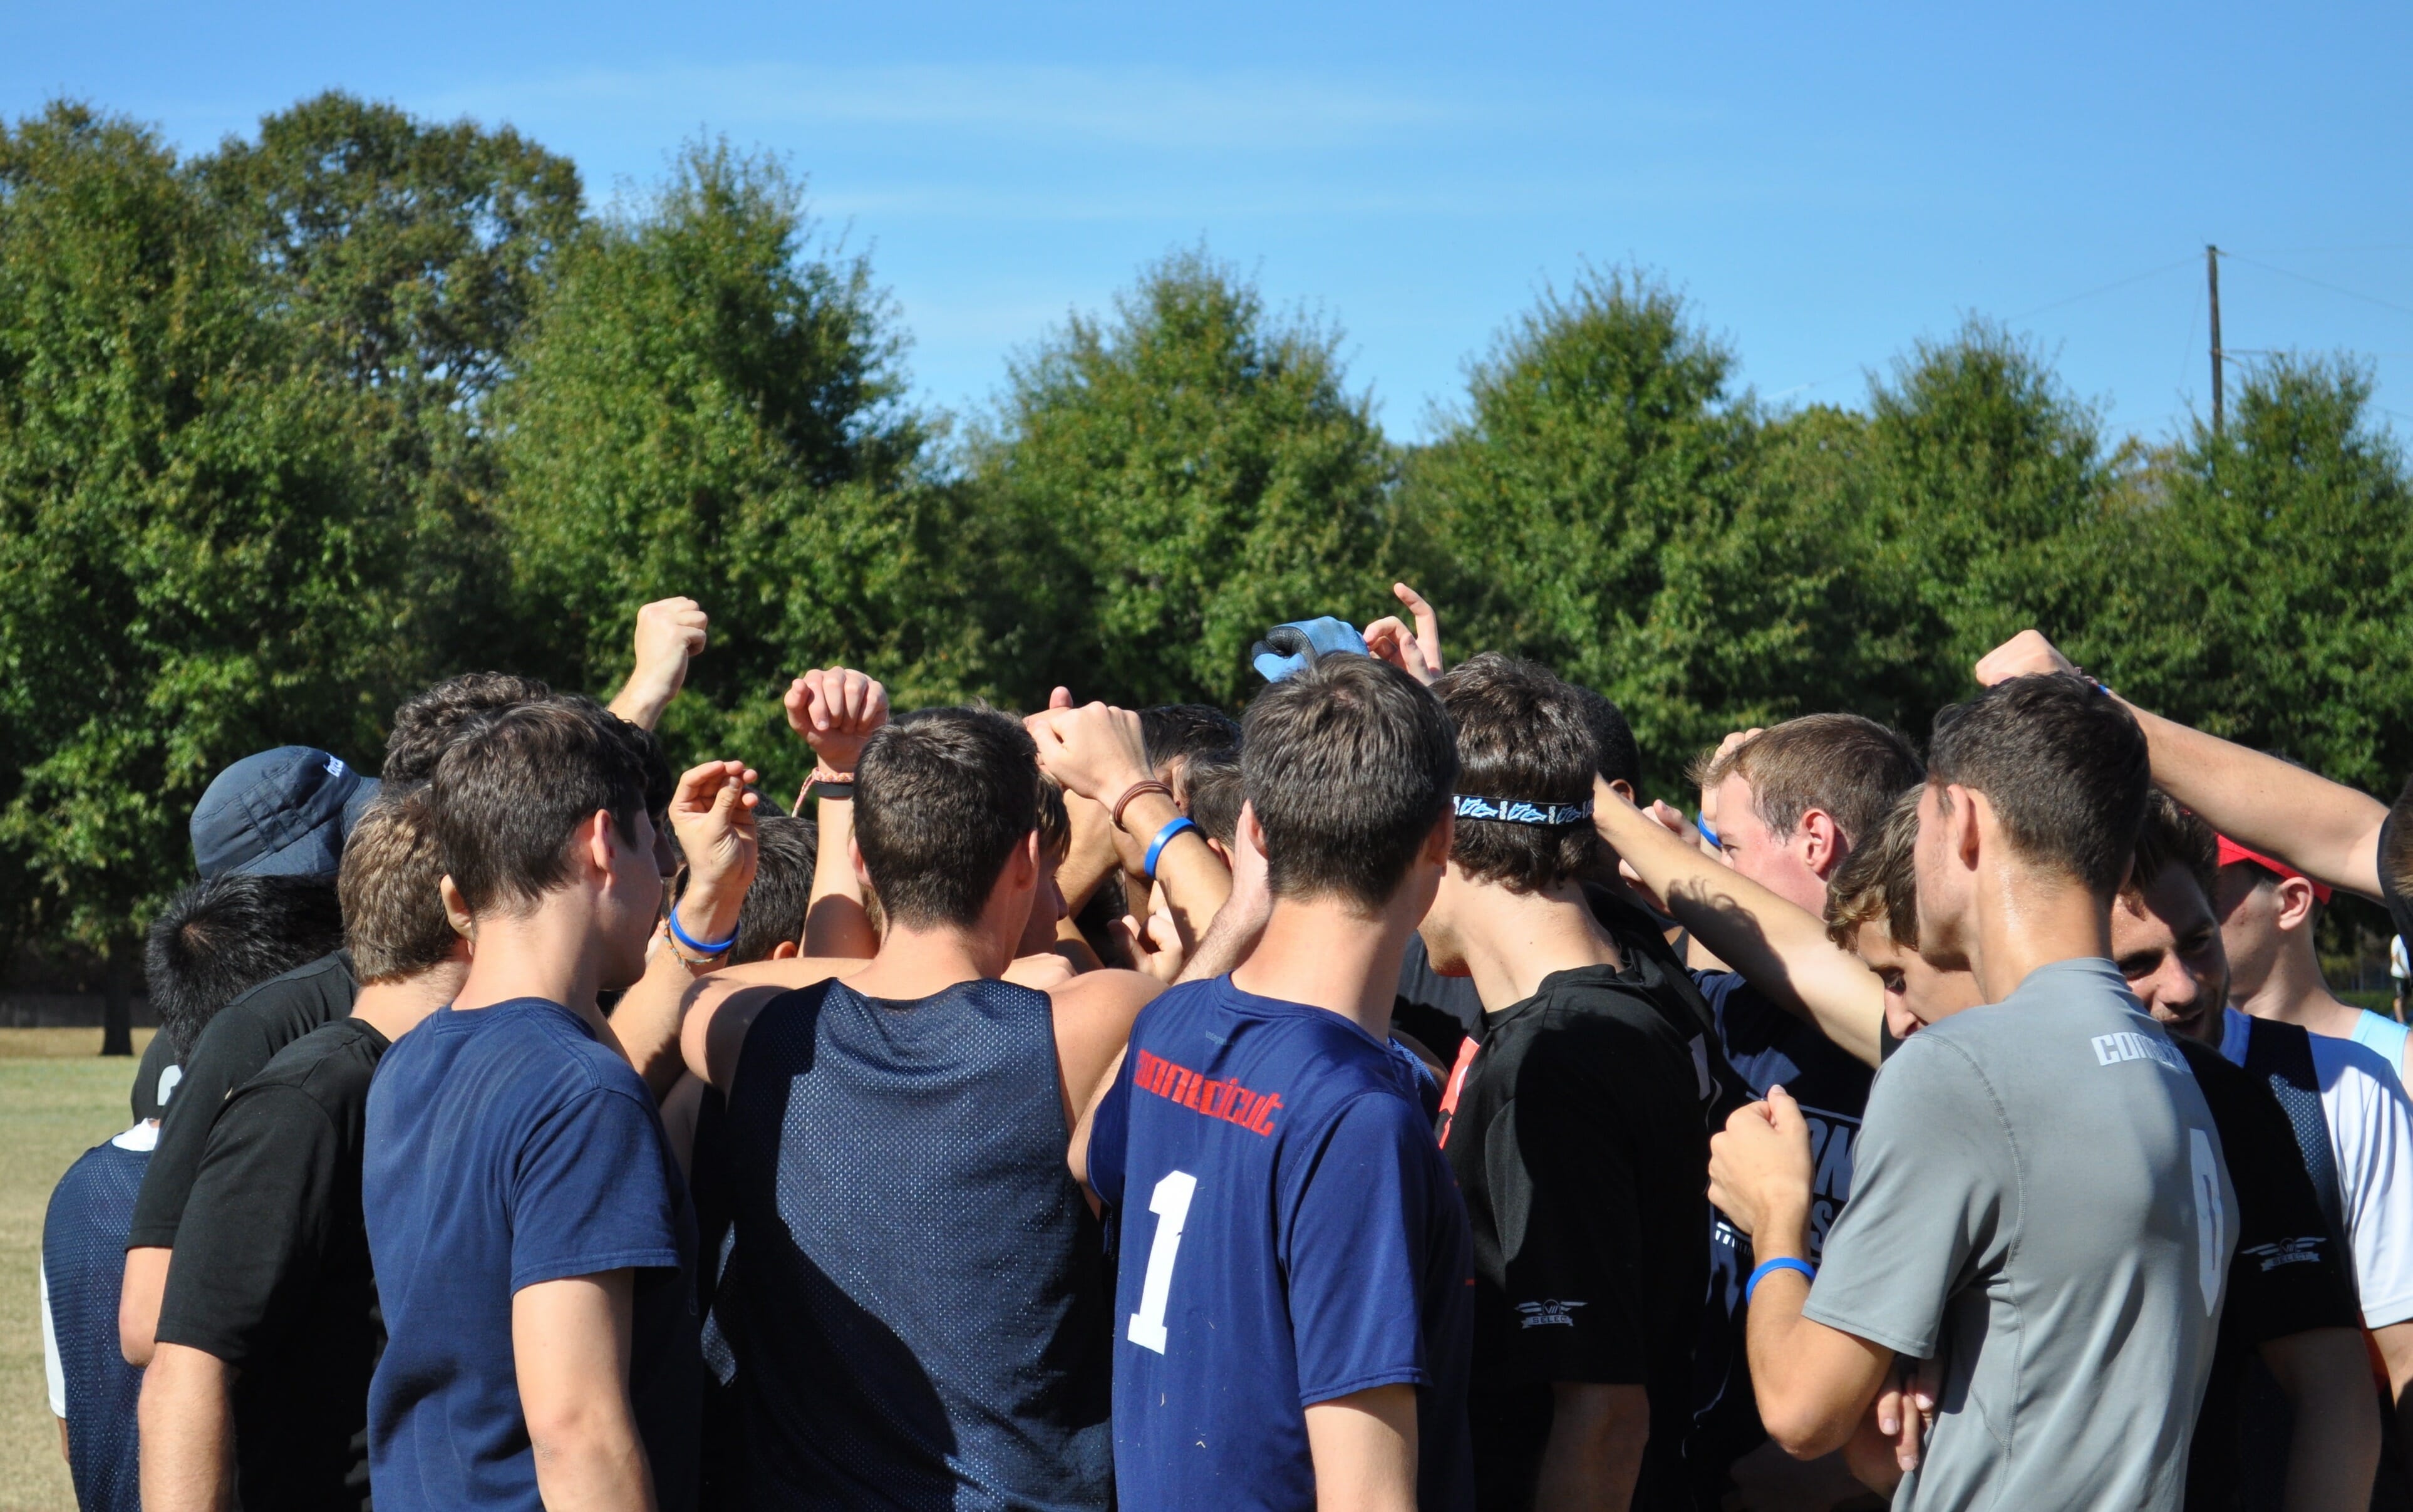
<path fill-rule="evenodd" d="M 1337 342 L 1185 251 L 1013 362 L 972 453 L 1028 581 L 997 603 L 992 680 L 1238 707 L 1269 627 L 1383 613 L 1390 449 Z"/>

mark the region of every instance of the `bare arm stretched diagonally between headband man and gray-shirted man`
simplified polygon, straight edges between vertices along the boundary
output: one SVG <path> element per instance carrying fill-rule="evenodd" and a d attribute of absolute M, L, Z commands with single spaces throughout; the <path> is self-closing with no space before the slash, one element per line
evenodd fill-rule
<path fill-rule="evenodd" d="M 1607 784 L 1593 789 L 1593 825 L 1696 940 L 1771 1003 L 1877 1063 L 1885 984 L 1858 955 L 1836 950 L 1822 919 L 1684 844 Z"/>

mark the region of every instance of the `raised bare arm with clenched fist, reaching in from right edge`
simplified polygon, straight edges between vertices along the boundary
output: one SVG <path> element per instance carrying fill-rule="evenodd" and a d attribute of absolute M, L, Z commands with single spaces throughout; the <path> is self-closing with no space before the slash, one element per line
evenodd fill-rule
<path fill-rule="evenodd" d="M 1986 687 L 2029 673 L 2078 670 L 2034 629 L 1976 663 Z M 2104 690 L 2109 692 L 2109 690 Z M 2116 692 L 2111 692 L 2119 699 Z M 2389 808 L 2278 757 L 2205 736 L 2119 699 L 2152 745 L 2152 781 L 2237 844 L 2278 856 L 2316 883 L 2379 899 L 2379 825 Z"/>

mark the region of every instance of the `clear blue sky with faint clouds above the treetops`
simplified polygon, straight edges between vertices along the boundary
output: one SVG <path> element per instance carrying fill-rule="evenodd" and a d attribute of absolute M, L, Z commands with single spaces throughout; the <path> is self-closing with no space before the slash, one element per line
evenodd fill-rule
<path fill-rule="evenodd" d="M 208 147 L 345 87 L 509 121 L 589 195 L 680 137 L 789 154 L 866 246 L 931 403 L 1206 246 L 1344 328 L 1385 427 L 1585 260 L 1682 287 L 1776 403 L 1964 313 L 2111 424 L 2234 350 L 2355 350 L 2413 436 L 2413 7 L 68 5 L 0 0 L 0 109 Z M 2116 285 L 2116 287 L 2107 287 Z"/>

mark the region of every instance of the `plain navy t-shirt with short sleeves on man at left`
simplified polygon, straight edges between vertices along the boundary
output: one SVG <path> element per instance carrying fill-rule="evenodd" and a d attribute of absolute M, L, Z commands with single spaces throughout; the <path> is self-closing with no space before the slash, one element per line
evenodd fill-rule
<path fill-rule="evenodd" d="M 403 1035 L 369 1083 L 362 1213 L 386 1314 L 369 1379 L 379 1512 L 538 1512 L 512 1297 L 630 1268 L 654 1495 L 695 1505 L 695 1215 L 652 1092 L 579 1015 L 514 998 L 439 1008 Z"/>

